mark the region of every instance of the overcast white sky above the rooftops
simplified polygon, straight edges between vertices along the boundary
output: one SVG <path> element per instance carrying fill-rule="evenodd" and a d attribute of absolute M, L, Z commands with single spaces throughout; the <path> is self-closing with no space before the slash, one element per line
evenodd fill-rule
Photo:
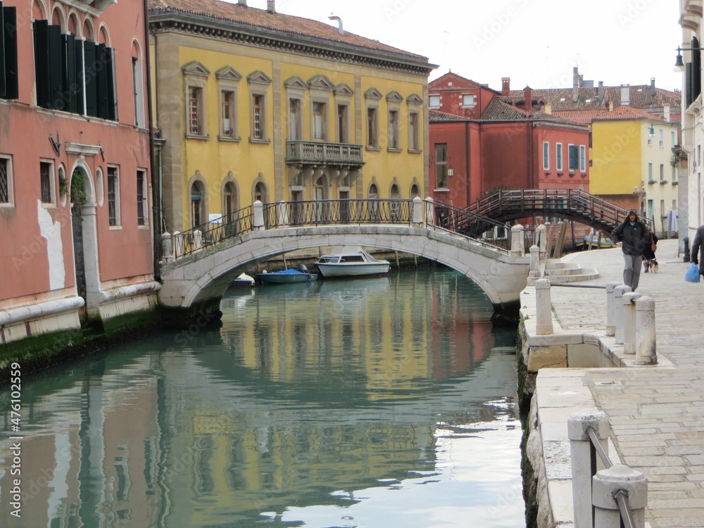
<path fill-rule="evenodd" d="M 237 0 L 230 0 L 236 2 Z M 248 0 L 266 8 L 266 0 Z M 572 67 L 594 85 L 681 89 L 678 0 L 277 0 L 287 15 L 427 56 L 439 67 L 500 90 L 572 87 Z"/>

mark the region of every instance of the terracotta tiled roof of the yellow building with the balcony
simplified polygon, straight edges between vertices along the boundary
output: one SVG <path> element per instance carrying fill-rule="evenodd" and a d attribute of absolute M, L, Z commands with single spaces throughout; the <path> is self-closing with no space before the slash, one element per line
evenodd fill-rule
<path fill-rule="evenodd" d="M 330 43 L 346 44 L 358 49 L 382 51 L 387 54 L 401 56 L 407 60 L 410 58 L 415 61 L 427 62 L 427 57 L 422 55 L 412 54 L 347 31 L 344 34 L 340 34 L 337 27 L 316 20 L 284 15 L 282 13 L 269 13 L 264 9 L 230 4 L 219 0 L 149 0 L 150 15 L 160 11 L 201 15 L 260 30 L 278 32 L 282 35 L 294 34 L 301 37 L 313 37 Z M 429 66 L 432 67 L 432 65 Z"/>

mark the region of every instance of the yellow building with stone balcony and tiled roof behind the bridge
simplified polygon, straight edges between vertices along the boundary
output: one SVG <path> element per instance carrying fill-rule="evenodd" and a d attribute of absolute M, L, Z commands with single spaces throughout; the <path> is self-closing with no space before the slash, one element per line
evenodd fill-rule
<path fill-rule="evenodd" d="M 149 25 L 166 230 L 256 200 L 427 194 L 427 58 L 272 0 L 149 0 Z"/>

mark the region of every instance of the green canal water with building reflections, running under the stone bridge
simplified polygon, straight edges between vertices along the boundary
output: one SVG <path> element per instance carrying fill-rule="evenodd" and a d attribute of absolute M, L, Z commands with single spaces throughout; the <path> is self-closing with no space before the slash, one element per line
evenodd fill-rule
<path fill-rule="evenodd" d="M 524 527 L 515 329 L 469 279 L 233 290 L 222 312 L 25 376 L 0 526 Z"/>

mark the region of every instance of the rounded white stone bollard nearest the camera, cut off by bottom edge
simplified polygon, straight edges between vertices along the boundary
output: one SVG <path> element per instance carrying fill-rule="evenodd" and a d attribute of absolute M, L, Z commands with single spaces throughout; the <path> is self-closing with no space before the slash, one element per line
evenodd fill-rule
<path fill-rule="evenodd" d="M 592 503 L 594 505 L 594 528 L 620 528 L 621 512 L 617 503 L 619 496 L 628 498 L 634 528 L 646 525 L 648 505 L 648 479 L 627 465 L 614 464 L 596 472 L 592 479 Z M 577 527 L 577 524 L 574 524 Z"/>

